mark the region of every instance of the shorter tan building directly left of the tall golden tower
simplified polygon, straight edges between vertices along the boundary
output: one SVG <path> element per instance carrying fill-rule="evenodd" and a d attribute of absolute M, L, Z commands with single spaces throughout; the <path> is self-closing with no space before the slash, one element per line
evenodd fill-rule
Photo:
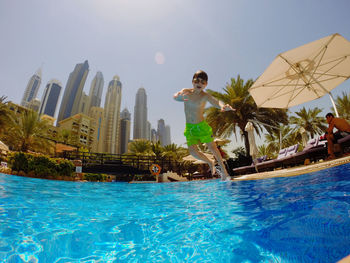
<path fill-rule="evenodd" d="M 104 147 L 104 133 L 105 133 L 105 120 L 104 109 L 100 107 L 91 107 L 89 112 L 91 117 L 91 126 L 94 129 L 93 142 L 91 144 L 92 152 L 103 152 Z"/>

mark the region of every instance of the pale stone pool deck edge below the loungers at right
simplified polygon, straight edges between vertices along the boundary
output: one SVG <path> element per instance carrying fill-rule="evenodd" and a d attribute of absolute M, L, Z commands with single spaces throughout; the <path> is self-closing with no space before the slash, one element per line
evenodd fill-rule
<path fill-rule="evenodd" d="M 320 161 L 309 165 L 274 170 L 274 171 L 263 172 L 263 173 L 246 174 L 239 177 L 235 177 L 232 179 L 232 181 L 260 180 L 260 179 L 275 178 L 275 177 L 297 176 L 301 174 L 317 172 L 323 169 L 327 169 L 330 167 L 335 167 L 335 166 L 339 166 L 347 163 L 350 163 L 349 155 L 345 157 L 337 158 L 334 160 Z"/>

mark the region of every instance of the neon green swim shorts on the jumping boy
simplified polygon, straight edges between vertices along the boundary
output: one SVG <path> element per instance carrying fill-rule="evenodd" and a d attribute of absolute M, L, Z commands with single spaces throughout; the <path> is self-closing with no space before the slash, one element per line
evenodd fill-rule
<path fill-rule="evenodd" d="M 187 145 L 191 146 L 198 143 L 212 142 L 213 131 L 206 121 L 200 123 L 186 123 L 184 135 L 187 140 Z"/>

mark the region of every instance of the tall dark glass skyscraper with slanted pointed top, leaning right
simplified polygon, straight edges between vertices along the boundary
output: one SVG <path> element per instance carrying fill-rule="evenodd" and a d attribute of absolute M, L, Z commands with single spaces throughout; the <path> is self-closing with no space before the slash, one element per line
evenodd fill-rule
<path fill-rule="evenodd" d="M 89 63 L 85 60 L 84 63 L 77 64 L 74 70 L 69 74 L 57 123 L 79 113 L 80 100 L 88 73 Z"/>

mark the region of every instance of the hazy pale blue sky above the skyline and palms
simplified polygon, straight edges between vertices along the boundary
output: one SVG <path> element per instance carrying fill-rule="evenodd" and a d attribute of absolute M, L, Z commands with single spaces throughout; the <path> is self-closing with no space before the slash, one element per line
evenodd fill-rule
<path fill-rule="evenodd" d="M 183 104 L 172 95 L 191 87 L 197 69 L 217 91 L 238 74 L 256 79 L 281 52 L 333 33 L 350 40 L 349 10 L 348 0 L 0 0 L 0 96 L 20 103 L 42 67 L 41 99 L 50 79 L 65 87 L 74 66 L 87 59 L 86 93 L 102 71 L 103 105 L 117 74 L 122 109 L 133 113 L 143 86 L 152 126 L 163 118 L 173 142 L 184 144 Z M 333 95 L 349 86 L 344 82 Z M 328 112 L 331 102 L 326 96 L 291 111 L 302 106 Z M 231 139 L 242 145 L 239 135 L 238 142 Z"/>

